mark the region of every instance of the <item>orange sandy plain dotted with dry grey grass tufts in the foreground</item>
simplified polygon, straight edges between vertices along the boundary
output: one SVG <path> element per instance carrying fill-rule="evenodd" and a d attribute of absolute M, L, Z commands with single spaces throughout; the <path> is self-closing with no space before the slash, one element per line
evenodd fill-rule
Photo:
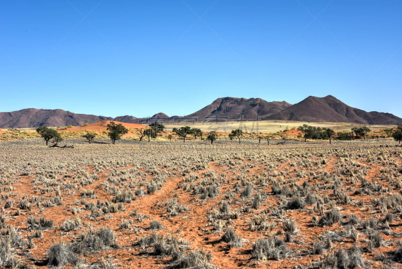
<path fill-rule="evenodd" d="M 401 267 L 402 147 L 0 143 L 0 267 Z"/>

